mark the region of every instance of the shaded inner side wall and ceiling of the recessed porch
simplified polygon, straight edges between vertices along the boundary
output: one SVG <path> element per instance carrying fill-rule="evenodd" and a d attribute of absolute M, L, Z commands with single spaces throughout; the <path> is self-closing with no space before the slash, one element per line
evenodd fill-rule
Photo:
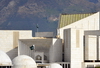
<path fill-rule="evenodd" d="M 30 47 L 35 45 L 35 50 L 31 50 Z M 18 55 L 28 55 L 34 59 L 34 53 L 43 52 L 49 60 L 49 49 L 52 45 L 52 38 L 45 39 L 19 39 Z"/>

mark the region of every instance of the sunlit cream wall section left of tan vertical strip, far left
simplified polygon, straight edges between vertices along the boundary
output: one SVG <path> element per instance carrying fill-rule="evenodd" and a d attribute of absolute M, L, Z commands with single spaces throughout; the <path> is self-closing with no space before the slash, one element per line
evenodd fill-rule
<path fill-rule="evenodd" d="M 13 49 L 13 32 L 0 30 L 0 50 L 8 52 Z"/>

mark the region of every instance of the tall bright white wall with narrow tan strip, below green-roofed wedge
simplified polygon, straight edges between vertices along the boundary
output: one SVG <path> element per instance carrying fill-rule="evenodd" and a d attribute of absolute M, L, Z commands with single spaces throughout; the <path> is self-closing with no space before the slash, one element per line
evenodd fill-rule
<path fill-rule="evenodd" d="M 71 68 L 81 68 L 84 61 L 83 30 L 71 30 Z"/>

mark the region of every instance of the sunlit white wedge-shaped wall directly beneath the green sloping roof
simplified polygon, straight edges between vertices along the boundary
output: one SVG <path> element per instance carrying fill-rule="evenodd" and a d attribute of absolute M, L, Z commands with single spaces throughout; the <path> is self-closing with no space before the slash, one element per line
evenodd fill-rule
<path fill-rule="evenodd" d="M 99 12 L 97 12 L 91 16 L 88 16 L 84 19 L 81 19 L 81 20 L 76 21 L 70 25 L 67 25 L 63 28 L 60 28 L 59 29 L 60 38 L 63 39 L 64 29 L 67 29 L 67 28 L 75 28 L 75 29 L 83 29 L 83 30 L 99 30 L 100 29 L 100 27 L 99 27 L 99 23 L 100 23 L 99 15 L 100 15 Z"/>

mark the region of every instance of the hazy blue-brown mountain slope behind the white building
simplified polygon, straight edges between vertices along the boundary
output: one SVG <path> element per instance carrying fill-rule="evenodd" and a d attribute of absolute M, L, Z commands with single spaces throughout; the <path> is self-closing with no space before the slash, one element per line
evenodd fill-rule
<path fill-rule="evenodd" d="M 99 0 L 0 0 L 0 29 L 56 31 L 59 14 L 100 10 Z"/>

